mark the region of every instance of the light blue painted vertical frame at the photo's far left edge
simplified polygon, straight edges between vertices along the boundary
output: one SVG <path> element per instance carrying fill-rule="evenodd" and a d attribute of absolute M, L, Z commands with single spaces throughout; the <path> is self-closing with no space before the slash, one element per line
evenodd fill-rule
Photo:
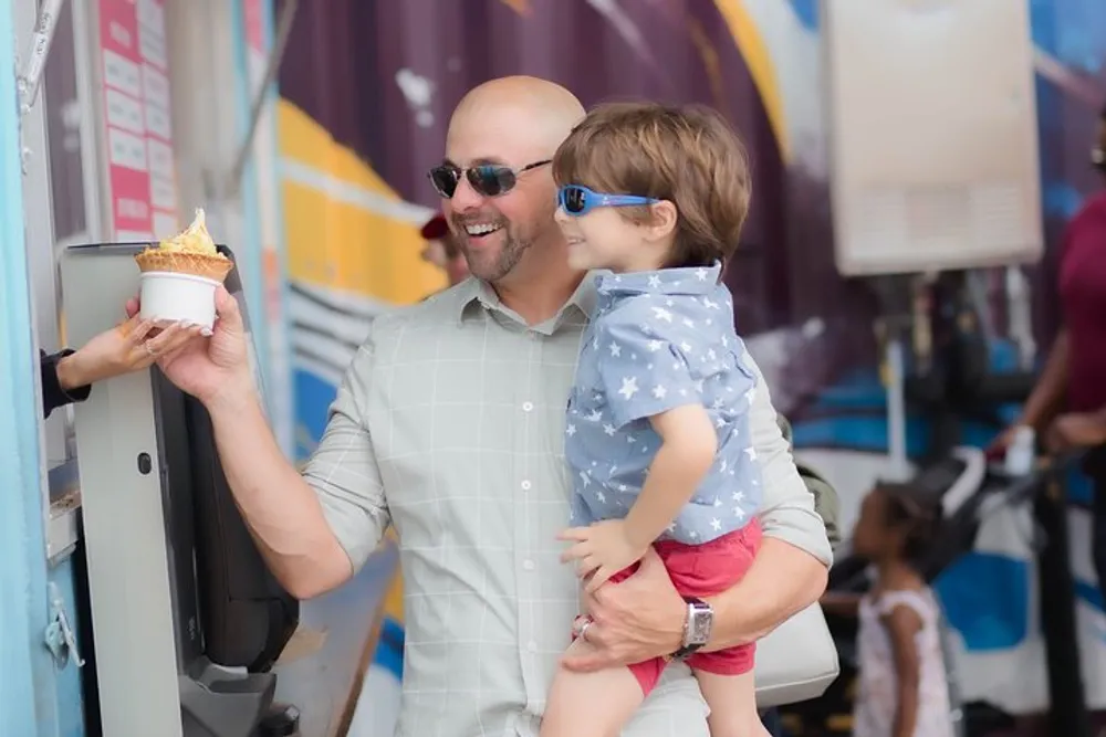
<path fill-rule="evenodd" d="M 11 0 L 0 0 L 0 714 L 3 731 L 58 734 L 46 627 L 38 356 L 31 334 Z M 41 95 L 40 95 L 41 101 Z M 34 166 L 46 166 L 42 151 Z"/>

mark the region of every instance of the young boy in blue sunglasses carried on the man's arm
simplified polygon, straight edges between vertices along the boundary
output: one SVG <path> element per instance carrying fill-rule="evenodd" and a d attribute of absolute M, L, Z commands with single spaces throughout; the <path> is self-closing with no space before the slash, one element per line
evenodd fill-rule
<path fill-rule="evenodd" d="M 630 575 L 653 546 L 695 603 L 740 580 L 761 539 L 748 421 L 755 375 L 721 283 L 749 209 L 744 151 L 711 110 L 608 105 L 557 149 L 553 173 L 570 263 L 605 270 L 568 400 L 575 488 L 564 558 L 595 590 Z M 589 646 L 586 628 L 572 649 Z M 712 737 L 766 735 L 753 649 L 679 653 Z M 665 665 L 561 668 L 542 736 L 616 737 Z"/>

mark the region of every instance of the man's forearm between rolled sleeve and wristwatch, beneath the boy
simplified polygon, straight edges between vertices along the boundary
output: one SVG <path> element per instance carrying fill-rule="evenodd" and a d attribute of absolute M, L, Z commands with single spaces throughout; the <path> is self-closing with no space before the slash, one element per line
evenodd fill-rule
<path fill-rule="evenodd" d="M 828 571 L 821 560 L 783 540 L 765 537 L 741 581 L 708 602 L 714 628 L 706 651 L 755 642 L 818 600 Z"/>

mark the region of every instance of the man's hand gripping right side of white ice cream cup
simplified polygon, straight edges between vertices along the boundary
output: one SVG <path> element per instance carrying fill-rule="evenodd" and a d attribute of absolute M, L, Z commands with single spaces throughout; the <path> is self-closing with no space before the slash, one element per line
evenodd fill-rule
<path fill-rule="evenodd" d="M 136 315 L 138 309 L 137 299 L 127 303 L 127 314 Z M 169 381 L 209 408 L 222 398 L 241 399 L 253 391 L 242 314 L 223 286 L 216 289 L 215 310 L 217 319 L 209 340 L 189 341 L 157 359 Z"/>

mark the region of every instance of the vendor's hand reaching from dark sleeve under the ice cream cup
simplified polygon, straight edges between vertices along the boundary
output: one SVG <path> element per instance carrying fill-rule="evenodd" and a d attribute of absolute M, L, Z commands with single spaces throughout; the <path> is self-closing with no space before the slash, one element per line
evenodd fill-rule
<path fill-rule="evenodd" d="M 58 382 L 69 391 L 149 368 L 156 357 L 199 336 L 200 328 L 170 325 L 158 330 L 137 315 L 95 336 L 58 362 Z"/>

